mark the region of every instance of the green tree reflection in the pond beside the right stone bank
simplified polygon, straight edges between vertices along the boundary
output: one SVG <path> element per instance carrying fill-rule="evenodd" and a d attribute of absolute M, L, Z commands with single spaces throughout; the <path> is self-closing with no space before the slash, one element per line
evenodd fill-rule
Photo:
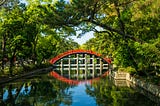
<path fill-rule="evenodd" d="M 109 78 L 86 85 L 86 92 L 95 98 L 98 106 L 157 106 L 129 87 L 116 87 Z"/>

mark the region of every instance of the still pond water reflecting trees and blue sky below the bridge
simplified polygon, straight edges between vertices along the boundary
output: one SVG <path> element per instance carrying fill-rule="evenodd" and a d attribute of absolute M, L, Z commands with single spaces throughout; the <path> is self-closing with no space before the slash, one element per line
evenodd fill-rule
<path fill-rule="evenodd" d="M 115 86 L 108 77 L 76 82 L 45 74 L 0 85 L 0 106 L 158 106 L 138 89 Z"/>

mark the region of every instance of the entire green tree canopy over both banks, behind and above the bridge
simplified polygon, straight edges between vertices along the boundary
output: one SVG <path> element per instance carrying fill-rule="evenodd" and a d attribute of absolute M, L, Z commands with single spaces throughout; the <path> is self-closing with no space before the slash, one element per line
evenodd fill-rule
<path fill-rule="evenodd" d="M 40 64 L 79 48 L 68 36 L 95 32 L 83 48 L 112 58 L 137 73 L 158 72 L 160 7 L 157 0 L 27 0 L 8 1 L 0 10 L 2 58 L 32 59 Z M 98 28 L 97 28 L 98 26 Z M 7 56 L 6 56 L 7 55 Z M 4 64 L 4 62 L 2 62 Z M 134 70 L 132 70 L 134 71 Z M 131 72 L 132 72 L 131 71 Z"/>

